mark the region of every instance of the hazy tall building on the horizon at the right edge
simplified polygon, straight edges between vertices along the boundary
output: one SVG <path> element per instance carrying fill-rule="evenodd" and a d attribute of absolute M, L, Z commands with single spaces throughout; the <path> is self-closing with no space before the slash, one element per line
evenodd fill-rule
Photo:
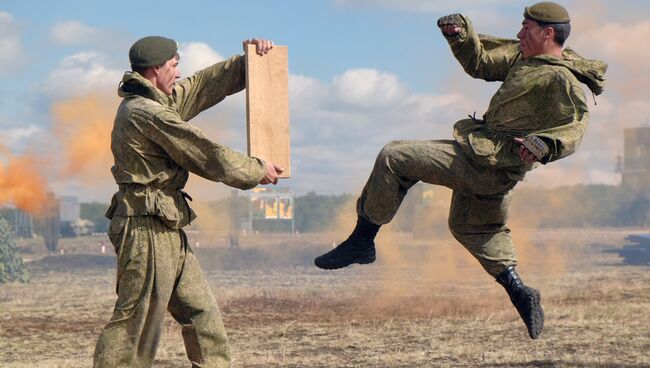
<path fill-rule="evenodd" d="M 624 154 L 619 162 L 621 184 L 635 192 L 650 191 L 650 127 L 623 131 Z"/>

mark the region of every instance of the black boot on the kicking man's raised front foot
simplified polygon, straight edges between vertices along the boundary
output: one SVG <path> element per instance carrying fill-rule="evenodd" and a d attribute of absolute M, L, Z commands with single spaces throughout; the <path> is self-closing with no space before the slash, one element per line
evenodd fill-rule
<path fill-rule="evenodd" d="M 375 236 L 380 225 L 359 217 L 357 226 L 346 241 L 329 252 L 316 257 L 314 264 L 325 270 L 347 267 L 353 263 L 368 264 L 375 261 Z"/>

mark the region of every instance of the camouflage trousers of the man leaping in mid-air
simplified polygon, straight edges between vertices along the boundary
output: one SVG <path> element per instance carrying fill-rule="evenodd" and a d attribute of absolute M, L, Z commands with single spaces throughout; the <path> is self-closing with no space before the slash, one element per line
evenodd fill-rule
<path fill-rule="evenodd" d="M 505 171 L 479 166 L 453 140 L 387 144 L 357 201 L 357 213 L 378 225 L 390 222 L 418 181 L 453 190 L 449 229 L 490 275 L 517 264 L 506 226 L 517 182 Z"/>

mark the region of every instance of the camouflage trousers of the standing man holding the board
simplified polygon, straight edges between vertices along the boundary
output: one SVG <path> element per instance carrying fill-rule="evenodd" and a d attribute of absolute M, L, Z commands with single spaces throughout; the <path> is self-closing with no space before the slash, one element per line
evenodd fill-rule
<path fill-rule="evenodd" d="M 114 217 L 117 302 L 95 347 L 94 367 L 151 367 L 169 311 L 192 367 L 230 366 L 221 314 L 183 230 L 155 216 Z"/>

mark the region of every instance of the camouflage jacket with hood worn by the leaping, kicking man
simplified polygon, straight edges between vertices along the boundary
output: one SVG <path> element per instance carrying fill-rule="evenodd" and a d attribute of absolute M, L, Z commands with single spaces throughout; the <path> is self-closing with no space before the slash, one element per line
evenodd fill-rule
<path fill-rule="evenodd" d="M 519 158 L 514 137 L 536 135 L 550 148 L 543 163 L 573 153 L 585 132 L 589 110 L 580 82 L 600 94 L 607 64 L 567 48 L 562 59 L 523 58 L 519 41 L 475 33 L 470 20 L 459 36 L 446 37 L 454 56 L 474 78 L 501 81 L 482 119 L 463 119 L 454 137 L 481 165 L 507 170 L 521 180 L 532 165 Z"/>

